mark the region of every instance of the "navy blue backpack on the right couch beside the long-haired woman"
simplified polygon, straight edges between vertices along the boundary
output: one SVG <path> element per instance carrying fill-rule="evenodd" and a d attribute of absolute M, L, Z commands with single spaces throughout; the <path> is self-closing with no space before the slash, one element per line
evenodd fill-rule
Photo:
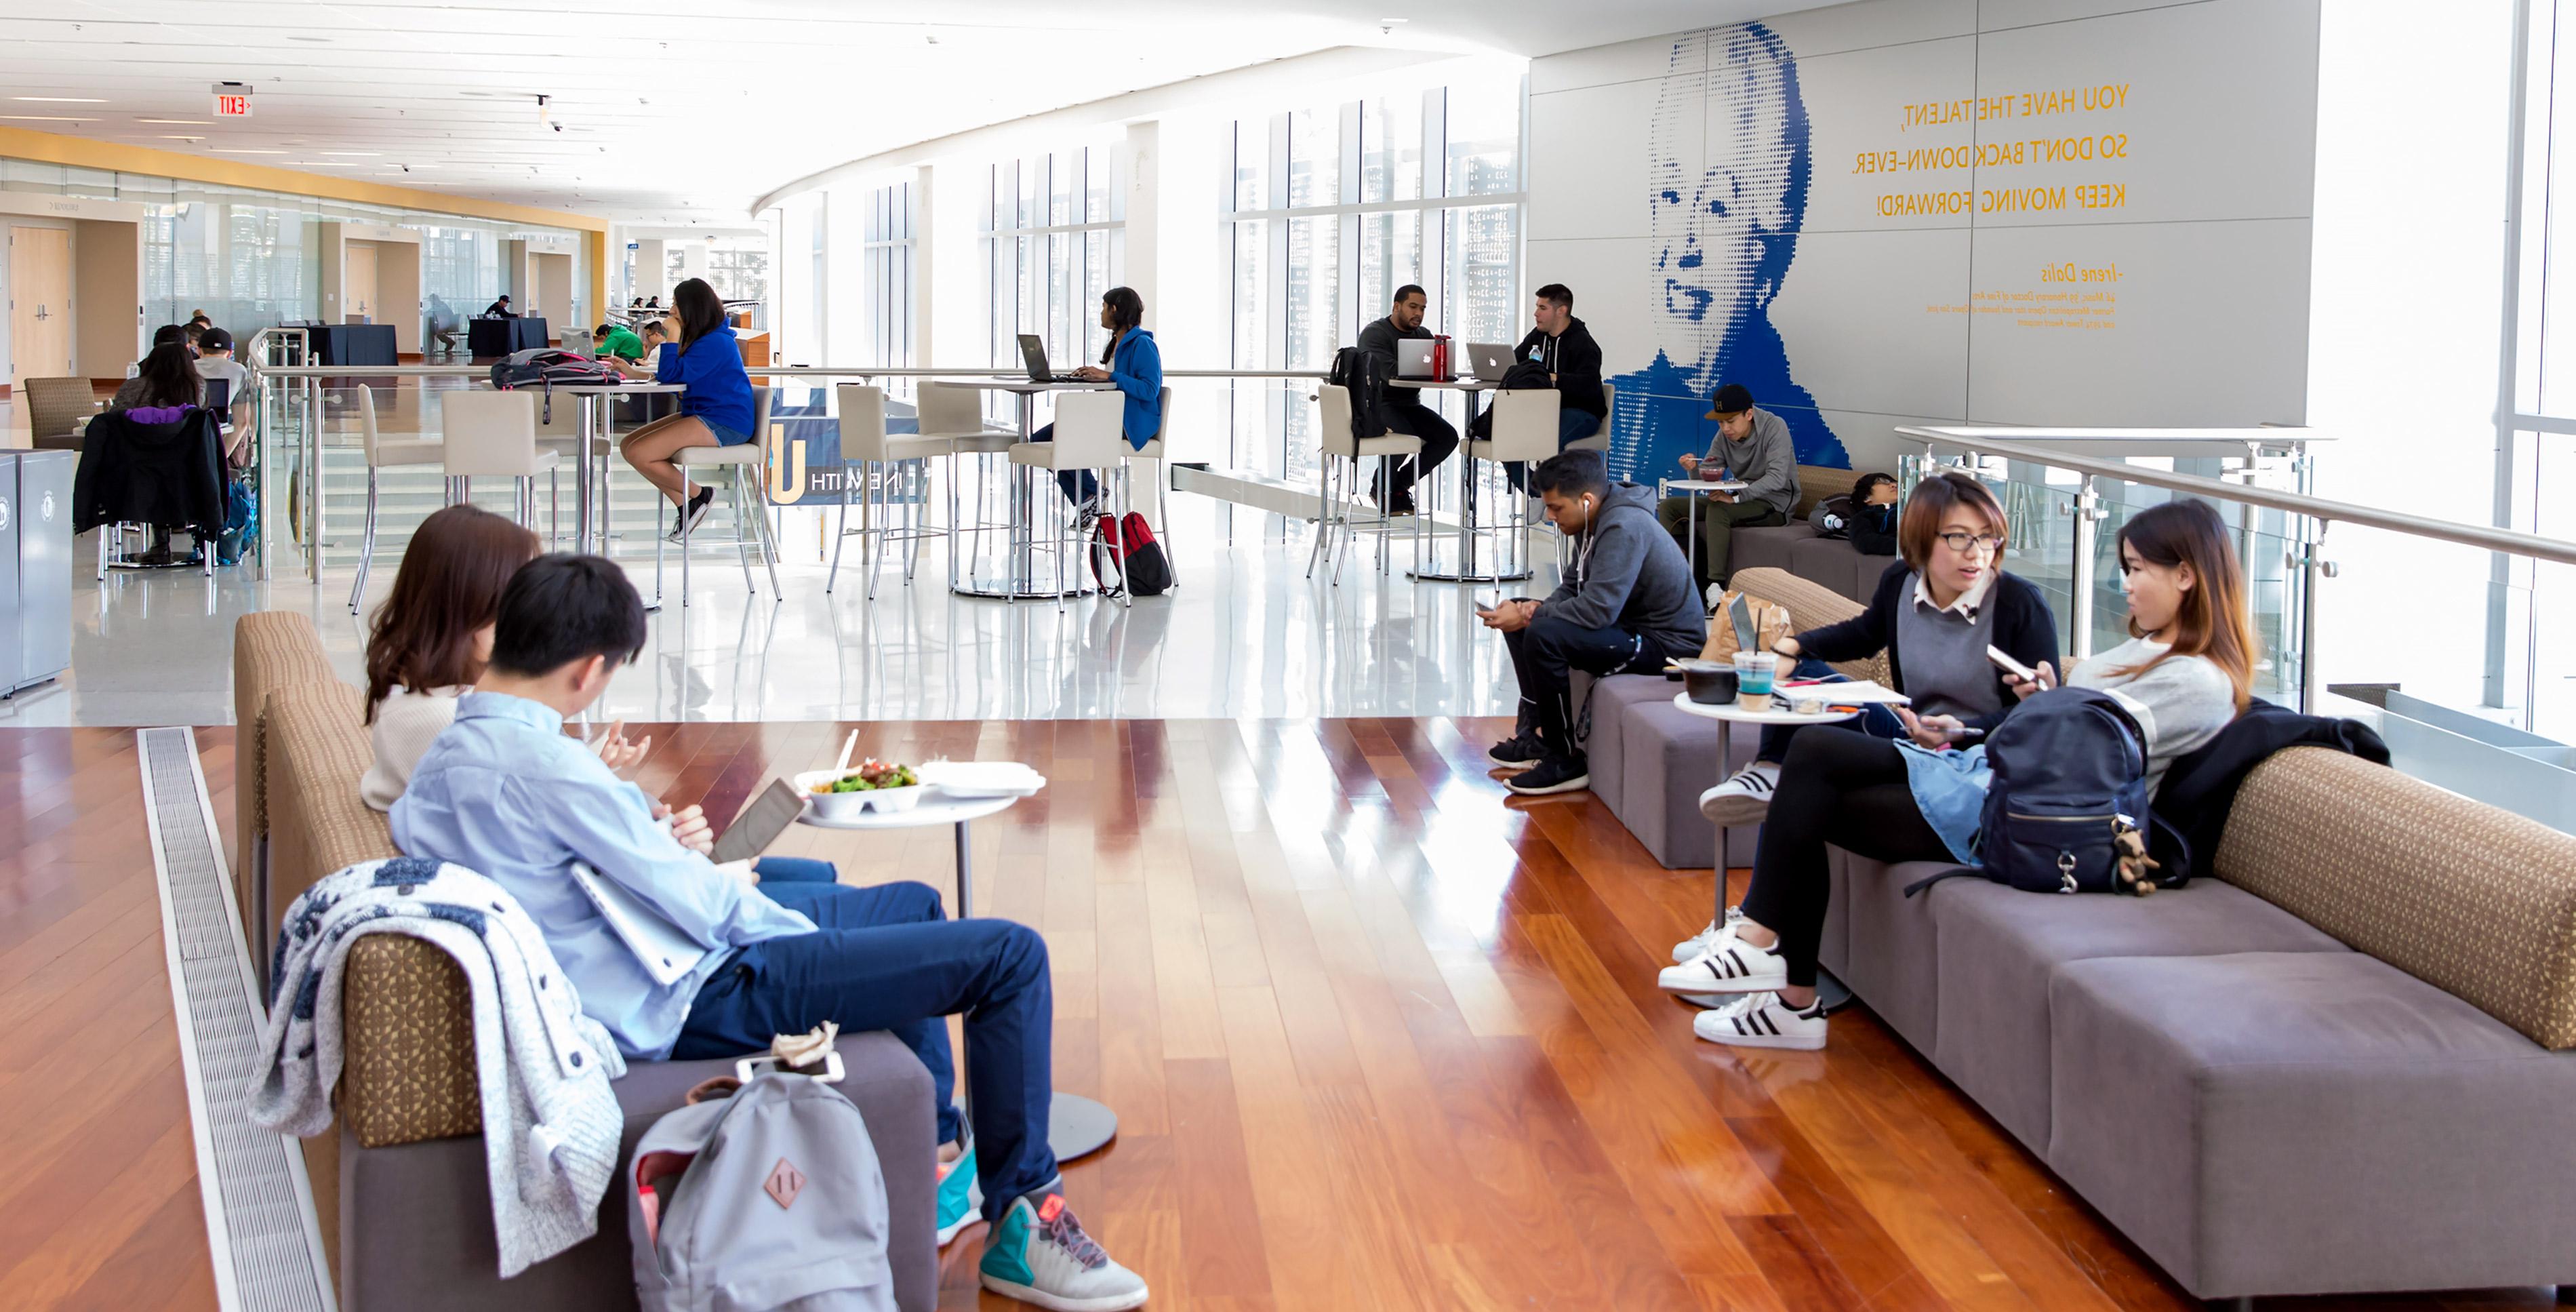
<path fill-rule="evenodd" d="M 1958 874 L 1984 874 L 2022 892 L 2133 892 L 2156 879 L 2138 861 L 2123 871 L 2123 845 L 2146 853 L 2154 815 L 2146 796 L 2146 732 L 2099 688 L 2048 688 L 2020 706 L 1986 737 L 1994 781 L 1976 833 L 1976 871 L 1958 869 L 1906 887 Z"/>

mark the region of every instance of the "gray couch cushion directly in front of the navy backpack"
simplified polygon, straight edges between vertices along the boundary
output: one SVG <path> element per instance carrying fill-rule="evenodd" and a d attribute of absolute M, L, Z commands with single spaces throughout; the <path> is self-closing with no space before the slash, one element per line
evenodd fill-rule
<path fill-rule="evenodd" d="M 2032 1152 L 2048 1152 L 2048 979 L 2066 961 L 2347 951 L 2215 879 L 2154 897 L 2056 897 L 1986 879 L 1937 889 L 1942 1023 L 1932 1062 Z"/>

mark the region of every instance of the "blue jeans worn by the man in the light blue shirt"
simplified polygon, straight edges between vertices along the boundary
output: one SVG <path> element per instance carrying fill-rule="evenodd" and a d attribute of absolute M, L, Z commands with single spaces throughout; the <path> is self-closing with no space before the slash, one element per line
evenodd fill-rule
<path fill-rule="evenodd" d="M 1054 1183 L 1046 1124 L 1056 995 L 1038 931 L 1010 920 L 948 920 L 930 884 L 778 882 L 773 861 L 781 858 L 760 863 L 760 892 L 809 915 L 817 931 L 742 949 L 698 990 L 672 1057 L 762 1052 L 770 1036 L 824 1021 L 845 1031 L 884 1028 L 930 1067 L 940 1142 L 951 1142 L 963 1126 L 948 1016 L 966 1013 L 984 1219 L 999 1222 L 1012 1199 Z"/>

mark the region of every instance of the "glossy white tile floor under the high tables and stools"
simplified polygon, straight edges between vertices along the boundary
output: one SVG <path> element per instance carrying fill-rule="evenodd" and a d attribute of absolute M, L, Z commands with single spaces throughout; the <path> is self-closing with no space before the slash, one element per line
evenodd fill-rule
<path fill-rule="evenodd" d="M 626 719 L 1193 719 L 1193 717 L 1432 717 L 1510 714 L 1510 660 L 1484 632 L 1468 590 L 1412 583 L 1404 554 L 1378 575 L 1352 552 L 1342 585 L 1309 583 L 1306 531 L 1257 541 L 1260 516 L 1236 513 L 1224 544 L 1216 508 L 1175 497 L 1182 585 L 1121 608 L 1077 598 L 958 598 L 933 544 L 920 583 L 889 570 L 876 601 L 853 559 L 824 595 L 819 564 L 783 564 L 786 601 L 742 590 L 732 559 L 698 557 L 693 606 L 652 619 L 644 655 L 600 714 Z M 75 554 L 88 562 L 90 539 Z M 652 595 L 652 557 L 629 562 Z M 278 570 L 80 572 L 72 673 L 0 701 L 0 724 L 229 724 L 232 621 L 250 611 L 314 616 L 343 678 L 361 678 L 363 626 L 348 613 L 348 570 L 312 585 Z M 394 559 L 376 562 L 368 603 Z M 1553 570 L 1515 593 L 1543 595 Z M 1492 595 L 1492 590 L 1486 590 Z M 677 577 L 672 577 L 677 601 Z"/>

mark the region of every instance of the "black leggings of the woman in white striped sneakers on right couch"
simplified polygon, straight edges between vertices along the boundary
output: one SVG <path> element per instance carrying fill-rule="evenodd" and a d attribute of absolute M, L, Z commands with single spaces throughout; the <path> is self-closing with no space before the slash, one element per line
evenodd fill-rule
<path fill-rule="evenodd" d="M 1780 789 L 1754 845 L 1754 882 L 1744 892 L 1744 918 L 1780 936 L 1795 987 L 1816 985 L 1816 943 L 1832 897 L 1826 843 L 1873 861 L 1950 861 L 1950 845 L 1914 804 L 1893 742 L 1826 724 L 1798 732 L 1780 763 Z"/>

